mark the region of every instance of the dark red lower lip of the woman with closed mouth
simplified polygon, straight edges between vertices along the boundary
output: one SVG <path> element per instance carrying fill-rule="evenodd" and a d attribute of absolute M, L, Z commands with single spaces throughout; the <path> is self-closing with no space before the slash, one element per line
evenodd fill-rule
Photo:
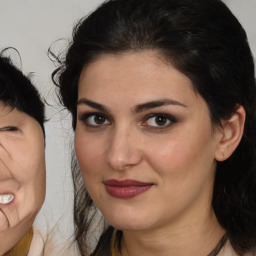
<path fill-rule="evenodd" d="M 149 190 L 153 185 L 143 186 L 112 186 L 105 185 L 109 195 L 116 198 L 133 198 Z"/>

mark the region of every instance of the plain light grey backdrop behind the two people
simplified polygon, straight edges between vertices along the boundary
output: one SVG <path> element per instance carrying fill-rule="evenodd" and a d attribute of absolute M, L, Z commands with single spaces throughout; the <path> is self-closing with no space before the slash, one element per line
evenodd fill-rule
<path fill-rule="evenodd" d="M 178 1 L 178 0 L 177 0 Z M 36 226 L 49 229 L 58 223 L 58 239 L 73 231 L 73 192 L 70 172 L 72 129 L 70 116 L 57 104 L 51 82 L 54 63 L 47 56 L 52 45 L 55 52 L 65 50 L 77 21 L 94 10 L 102 0 L 0 0 L 0 50 L 16 48 L 8 53 L 25 74 L 33 73 L 32 81 L 47 106 L 46 168 L 47 193 Z M 256 0 L 225 0 L 247 31 L 256 56 Z M 0 170 L 1 171 L 1 170 Z M 61 234 L 61 235 L 60 235 Z"/>

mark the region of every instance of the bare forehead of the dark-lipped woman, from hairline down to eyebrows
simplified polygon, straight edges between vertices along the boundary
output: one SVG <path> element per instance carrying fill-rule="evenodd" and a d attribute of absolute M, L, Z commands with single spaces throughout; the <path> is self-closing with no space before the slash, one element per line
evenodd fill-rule
<path fill-rule="evenodd" d="M 78 98 L 137 101 L 176 97 L 196 100 L 191 80 L 152 51 L 102 55 L 81 72 Z"/>

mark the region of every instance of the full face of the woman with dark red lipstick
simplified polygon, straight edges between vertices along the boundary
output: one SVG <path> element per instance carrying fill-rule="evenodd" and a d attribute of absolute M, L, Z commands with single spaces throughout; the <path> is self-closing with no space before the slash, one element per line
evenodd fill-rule
<path fill-rule="evenodd" d="M 210 213 L 219 139 L 191 81 L 156 53 L 103 55 L 82 70 L 75 150 L 114 227 L 149 230 Z"/>

